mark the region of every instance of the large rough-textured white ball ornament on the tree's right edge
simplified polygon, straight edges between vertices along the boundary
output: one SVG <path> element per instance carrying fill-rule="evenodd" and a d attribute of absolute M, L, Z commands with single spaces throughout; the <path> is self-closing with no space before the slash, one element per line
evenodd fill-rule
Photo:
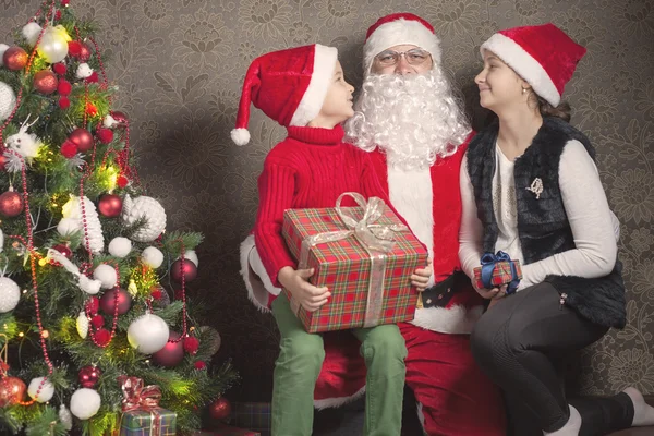
<path fill-rule="evenodd" d="M 123 221 L 131 226 L 142 217 L 145 217 L 147 222 L 132 235 L 134 241 L 154 241 L 166 230 L 166 210 L 159 202 L 145 195 L 136 198 L 125 195 L 122 209 Z"/>

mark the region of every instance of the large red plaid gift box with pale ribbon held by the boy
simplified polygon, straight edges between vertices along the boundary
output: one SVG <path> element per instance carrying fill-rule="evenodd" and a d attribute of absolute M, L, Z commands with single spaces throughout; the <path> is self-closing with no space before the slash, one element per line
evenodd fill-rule
<path fill-rule="evenodd" d="M 359 207 L 341 207 L 351 196 Z M 315 312 L 287 296 L 308 332 L 412 320 L 417 291 L 411 275 L 427 265 L 427 251 L 379 198 L 341 195 L 335 208 L 288 209 L 282 234 L 299 268 L 330 300 Z"/>

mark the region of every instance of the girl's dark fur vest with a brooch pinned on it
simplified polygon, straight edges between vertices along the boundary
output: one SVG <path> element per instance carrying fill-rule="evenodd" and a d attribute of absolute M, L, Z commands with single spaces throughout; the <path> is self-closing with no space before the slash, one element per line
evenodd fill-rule
<path fill-rule="evenodd" d="M 468 172 L 474 189 L 477 217 L 483 223 L 485 252 L 495 252 L 498 228 L 493 208 L 493 175 L 498 123 L 480 132 L 467 152 Z M 516 159 L 513 177 L 518 213 L 518 234 L 525 265 L 574 249 L 558 184 L 558 169 L 568 141 L 581 142 L 595 159 L 589 138 L 567 122 L 547 117 L 522 156 Z M 538 197 L 529 190 L 542 181 Z M 608 237 L 608 235 L 607 235 Z M 610 235 L 613 238 L 613 234 Z M 621 264 L 616 262 L 605 277 L 586 279 L 573 276 L 547 276 L 557 291 L 566 293 L 566 304 L 593 323 L 622 328 L 627 322 Z"/>

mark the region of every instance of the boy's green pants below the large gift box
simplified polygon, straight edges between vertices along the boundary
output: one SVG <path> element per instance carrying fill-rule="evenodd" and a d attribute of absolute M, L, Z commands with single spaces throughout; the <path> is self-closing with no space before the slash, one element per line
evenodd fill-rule
<path fill-rule="evenodd" d="M 314 388 L 325 359 L 323 336 L 307 334 L 289 300 L 279 295 L 272 314 L 281 334 L 272 388 L 272 436 L 310 436 Z M 367 366 L 365 436 L 399 436 L 404 389 L 404 339 L 396 325 L 356 328 Z"/>

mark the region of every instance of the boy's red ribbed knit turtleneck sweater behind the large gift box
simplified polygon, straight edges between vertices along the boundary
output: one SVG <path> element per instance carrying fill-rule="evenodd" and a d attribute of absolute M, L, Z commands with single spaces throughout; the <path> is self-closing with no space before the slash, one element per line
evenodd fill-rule
<path fill-rule="evenodd" d="M 281 288 L 277 279 L 279 270 L 284 266 L 296 268 L 281 235 L 286 209 L 335 207 L 343 192 L 359 192 L 366 198 L 377 196 L 392 208 L 370 155 L 343 143 L 343 135 L 340 125 L 334 129 L 291 126 L 288 137 L 277 144 L 264 161 L 258 178 L 254 239 L 262 263 L 278 288 Z M 346 198 L 342 205 L 355 206 L 350 201 Z"/>

